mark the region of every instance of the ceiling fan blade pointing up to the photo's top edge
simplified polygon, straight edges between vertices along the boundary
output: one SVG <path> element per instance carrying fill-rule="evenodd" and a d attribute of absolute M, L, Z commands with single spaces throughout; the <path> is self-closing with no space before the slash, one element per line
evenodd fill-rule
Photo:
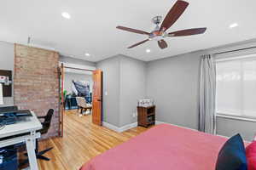
<path fill-rule="evenodd" d="M 166 31 L 169 29 L 177 19 L 183 14 L 184 10 L 189 6 L 189 3 L 185 1 L 178 0 L 174 6 L 171 8 L 169 13 L 166 15 L 165 20 L 160 26 L 160 31 Z"/>

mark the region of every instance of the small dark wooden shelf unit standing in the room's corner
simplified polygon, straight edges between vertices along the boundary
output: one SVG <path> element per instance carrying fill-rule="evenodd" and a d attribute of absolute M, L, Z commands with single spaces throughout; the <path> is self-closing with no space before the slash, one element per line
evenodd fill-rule
<path fill-rule="evenodd" d="M 142 107 L 137 106 L 137 125 L 149 127 L 155 124 L 155 105 Z"/>

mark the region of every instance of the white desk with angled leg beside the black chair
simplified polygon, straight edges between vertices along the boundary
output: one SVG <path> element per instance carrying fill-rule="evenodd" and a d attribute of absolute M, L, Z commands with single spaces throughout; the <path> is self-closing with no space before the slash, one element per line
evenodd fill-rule
<path fill-rule="evenodd" d="M 32 112 L 32 116 L 28 117 L 26 122 L 18 122 L 11 125 L 6 125 L 0 130 L 0 139 L 11 137 L 17 134 L 25 134 L 24 136 L 14 137 L 10 139 L 5 139 L 0 141 L 0 148 L 19 144 L 21 142 L 26 142 L 26 150 L 29 160 L 29 166 L 31 170 L 38 170 L 38 162 L 35 153 L 36 139 L 40 138 L 40 133 L 36 133 L 37 130 L 42 128 L 41 122 L 39 122 L 38 117 Z"/>

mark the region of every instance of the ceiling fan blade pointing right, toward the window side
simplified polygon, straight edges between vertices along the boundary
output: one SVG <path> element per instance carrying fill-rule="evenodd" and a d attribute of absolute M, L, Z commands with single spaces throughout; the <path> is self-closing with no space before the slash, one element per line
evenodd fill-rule
<path fill-rule="evenodd" d="M 203 34 L 207 31 L 207 28 L 192 28 L 188 30 L 181 30 L 181 31 L 173 31 L 168 33 L 169 37 L 183 37 L 183 36 L 193 36 L 197 34 Z"/>

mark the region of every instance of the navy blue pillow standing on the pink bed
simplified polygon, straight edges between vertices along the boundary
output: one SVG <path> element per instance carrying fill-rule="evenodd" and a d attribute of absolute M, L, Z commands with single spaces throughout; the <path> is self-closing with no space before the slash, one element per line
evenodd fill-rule
<path fill-rule="evenodd" d="M 246 151 L 240 134 L 230 138 L 218 153 L 216 170 L 247 170 Z"/>

